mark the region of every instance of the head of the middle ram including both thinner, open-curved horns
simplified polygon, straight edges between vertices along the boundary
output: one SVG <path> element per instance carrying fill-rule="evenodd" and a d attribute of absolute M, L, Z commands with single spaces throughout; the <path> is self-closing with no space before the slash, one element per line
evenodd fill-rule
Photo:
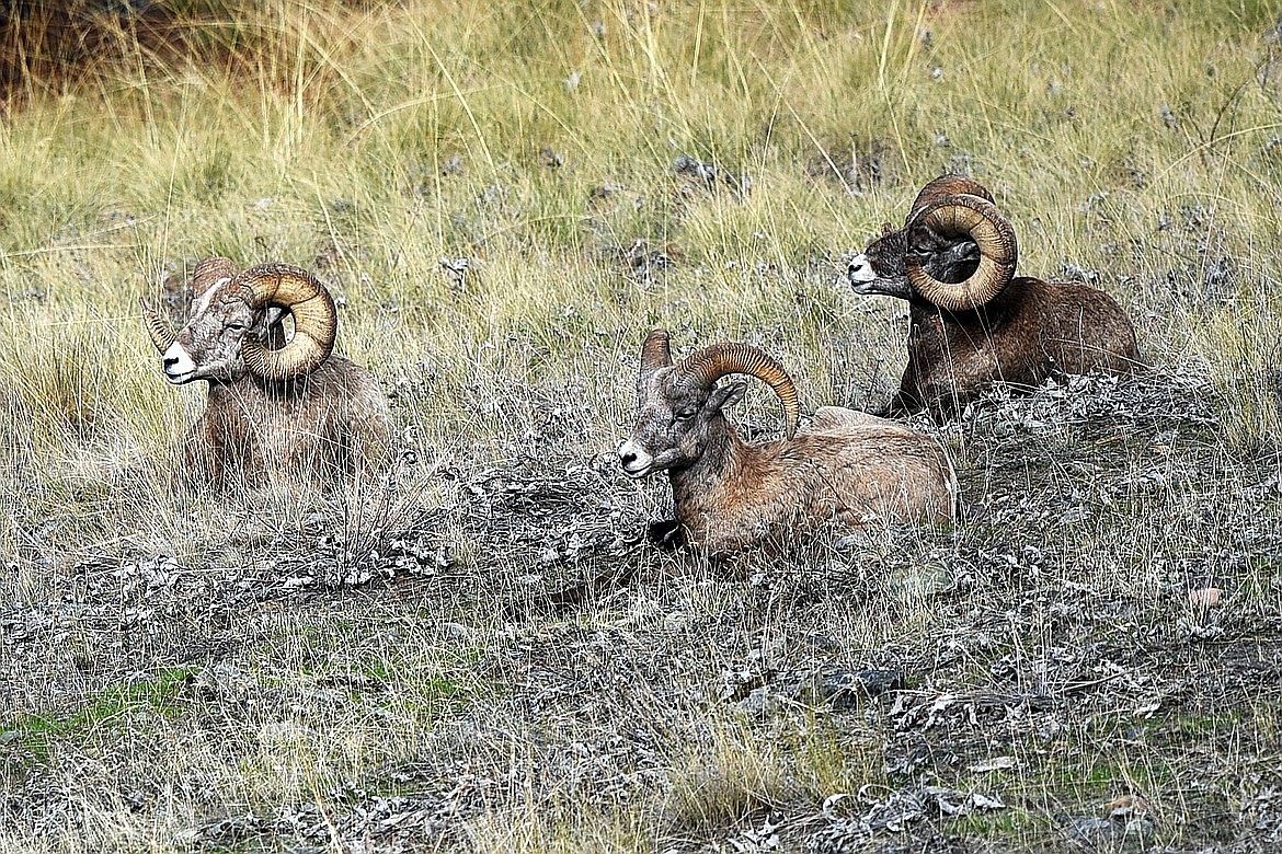
<path fill-rule="evenodd" d="M 728 374 L 747 374 L 769 384 L 783 405 L 787 437 L 796 431 L 796 387 L 768 355 L 751 344 L 724 342 L 673 365 L 668 341 L 665 330 L 655 329 L 641 347 L 637 424 L 632 438 L 619 447 L 619 463 L 629 478 L 685 469 L 704 455 L 722 424 L 722 410 L 747 391 L 740 380 L 717 387 Z"/>

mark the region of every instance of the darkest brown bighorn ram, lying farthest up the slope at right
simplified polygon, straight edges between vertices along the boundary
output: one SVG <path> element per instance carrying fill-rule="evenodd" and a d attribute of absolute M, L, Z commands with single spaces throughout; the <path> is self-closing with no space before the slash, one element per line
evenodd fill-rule
<path fill-rule="evenodd" d="M 850 262 L 856 293 L 908 300 L 908 366 L 879 415 L 960 412 L 994 380 L 1037 385 L 1055 371 L 1140 366 L 1135 328 L 1106 293 L 1015 277 L 1015 232 L 992 196 L 945 175 L 913 202 L 904 228 Z"/>

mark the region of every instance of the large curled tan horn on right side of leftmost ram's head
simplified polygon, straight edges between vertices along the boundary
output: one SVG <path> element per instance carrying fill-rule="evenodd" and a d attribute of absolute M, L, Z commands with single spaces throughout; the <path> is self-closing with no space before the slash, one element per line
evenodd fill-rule
<path fill-rule="evenodd" d="M 294 315 L 294 337 L 281 350 L 268 350 L 254 335 L 241 346 L 245 367 L 263 379 L 285 380 L 310 374 L 333 352 L 338 314 L 333 297 L 306 270 L 291 264 L 259 264 L 228 286 L 245 289 L 254 309 L 273 305 Z"/>

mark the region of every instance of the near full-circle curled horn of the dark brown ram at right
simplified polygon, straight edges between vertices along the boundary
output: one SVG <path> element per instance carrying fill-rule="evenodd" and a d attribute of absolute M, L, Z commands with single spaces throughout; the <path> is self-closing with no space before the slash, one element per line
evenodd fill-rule
<path fill-rule="evenodd" d="M 920 229 L 946 237 L 969 237 L 979 247 L 979 266 L 964 282 L 940 282 L 924 269 L 917 250 Z M 924 300 L 945 311 L 969 311 L 1001 293 L 1015 277 L 1019 248 L 1015 229 L 996 205 L 978 196 L 949 196 L 931 202 L 909 223 L 908 280 Z"/>

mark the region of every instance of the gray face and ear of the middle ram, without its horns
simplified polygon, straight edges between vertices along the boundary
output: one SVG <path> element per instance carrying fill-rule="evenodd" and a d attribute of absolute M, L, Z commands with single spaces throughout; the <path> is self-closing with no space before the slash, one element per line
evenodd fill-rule
<path fill-rule="evenodd" d="M 619 465 L 629 478 L 664 469 L 686 469 L 708 447 L 709 425 L 737 402 L 747 384 L 727 383 L 708 391 L 660 367 L 637 383 L 637 425 L 619 446 Z"/>

